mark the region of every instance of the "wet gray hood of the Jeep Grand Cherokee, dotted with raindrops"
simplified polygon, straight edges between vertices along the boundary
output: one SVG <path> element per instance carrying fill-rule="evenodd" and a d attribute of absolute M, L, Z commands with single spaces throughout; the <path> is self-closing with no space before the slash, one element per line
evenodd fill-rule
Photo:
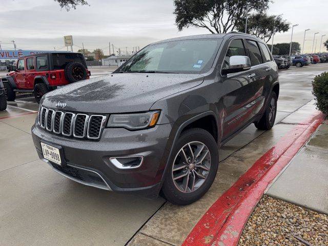
<path fill-rule="evenodd" d="M 148 111 L 159 99 L 202 83 L 199 74 L 114 73 L 56 89 L 42 98 L 42 105 L 84 113 Z"/>

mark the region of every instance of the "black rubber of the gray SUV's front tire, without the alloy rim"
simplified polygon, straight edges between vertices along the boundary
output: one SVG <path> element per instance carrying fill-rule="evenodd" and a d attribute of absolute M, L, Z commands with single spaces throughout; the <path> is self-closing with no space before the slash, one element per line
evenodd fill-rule
<path fill-rule="evenodd" d="M 189 142 L 193 141 L 199 141 L 202 144 L 206 145 L 210 152 L 211 166 L 210 171 L 208 172 L 208 176 L 204 180 L 202 185 L 199 186 L 199 188 L 197 188 L 193 192 L 184 193 L 175 186 L 173 181 L 172 169 L 175 157 L 180 152 L 181 148 L 187 145 Z M 212 186 L 218 169 L 218 147 L 213 136 L 208 131 L 200 128 L 192 128 L 186 130 L 185 132 L 182 132 L 173 148 L 174 149 L 172 151 L 172 156 L 168 164 L 169 166 L 165 174 L 165 180 L 163 182 L 161 195 L 174 204 L 190 204 L 201 198 Z"/>

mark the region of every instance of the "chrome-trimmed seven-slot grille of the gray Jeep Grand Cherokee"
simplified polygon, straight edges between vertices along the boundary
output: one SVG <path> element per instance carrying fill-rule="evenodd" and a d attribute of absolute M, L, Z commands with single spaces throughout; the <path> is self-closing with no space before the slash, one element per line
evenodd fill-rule
<path fill-rule="evenodd" d="M 75 114 L 45 107 L 41 107 L 38 114 L 40 127 L 67 137 L 98 139 L 105 122 L 105 115 Z"/>

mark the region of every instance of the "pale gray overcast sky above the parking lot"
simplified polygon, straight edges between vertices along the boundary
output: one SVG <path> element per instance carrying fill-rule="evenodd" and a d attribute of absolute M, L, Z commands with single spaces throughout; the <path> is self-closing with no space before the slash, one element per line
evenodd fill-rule
<path fill-rule="evenodd" d="M 19 49 L 65 50 L 63 36 L 73 35 L 74 51 L 82 47 L 102 48 L 109 53 L 108 43 L 116 48 L 132 50 L 157 40 L 208 33 L 203 28 L 178 32 L 174 22 L 173 0 L 88 0 L 90 6 L 78 6 L 67 12 L 53 0 L 1 0 L 0 41 L 2 49 L 12 49 L 15 40 Z M 328 38 L 327 0 L 274 0 L 269 13 L 283 14 L 294 28 L 293 41 L 303 44 L 317 34 L 319 50 L 322 34 Z M 291 30 L 276 34 L 274 43 L 290 42 Z M 271 41 L 270 41 L 271 43 Z M 310 52 L 312 41 L 305 41 L 304 52 Z"/>

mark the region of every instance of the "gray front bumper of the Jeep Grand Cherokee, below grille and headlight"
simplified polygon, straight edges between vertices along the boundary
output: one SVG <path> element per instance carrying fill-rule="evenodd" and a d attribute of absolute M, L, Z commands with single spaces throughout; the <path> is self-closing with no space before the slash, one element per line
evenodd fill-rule
<path fill-rule="evenodd" d="M 99 141 L 91 141 L 59 136 L 36 123 L 32 127 L 32 138 L 40 159 L 45 160 L 40 141 L 62 148 L 67 165 L 63 168 L 68 170 L 60 170 L 60 166 L 47 162 L 68 178 L 116 192 L 157 195 L 166 165 L 165 150 L 170 132 L 170 124 L 141 131 L 105 128 Z M 144 158 L 141 166 L 134 169 L 119 169 L 110 161 L 110 157 L 123 156 Z M 89 174 L 93 176 L 91 180 Z"/>

